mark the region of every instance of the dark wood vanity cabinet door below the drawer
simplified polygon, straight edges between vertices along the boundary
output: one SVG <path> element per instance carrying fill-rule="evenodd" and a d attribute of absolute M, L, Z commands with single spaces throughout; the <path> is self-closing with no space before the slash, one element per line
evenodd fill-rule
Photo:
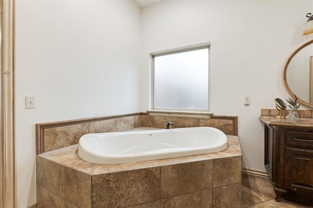
<path fill-rule="evenodd" d="M 285 188 L 288 200 L 313 206 L 313 150 L 285 148 Z"/>

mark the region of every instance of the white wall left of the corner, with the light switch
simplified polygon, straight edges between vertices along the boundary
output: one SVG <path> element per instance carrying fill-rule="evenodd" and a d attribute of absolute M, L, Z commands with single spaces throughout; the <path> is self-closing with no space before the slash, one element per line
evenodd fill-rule
<path fill-rule="evenodd" d="M 140 9 L 132 0 L 17 0 L 18 207 L 36 203 L 35 124 L 139 110 Z M 25 95 L 36 109 L 25 109 Z"/>

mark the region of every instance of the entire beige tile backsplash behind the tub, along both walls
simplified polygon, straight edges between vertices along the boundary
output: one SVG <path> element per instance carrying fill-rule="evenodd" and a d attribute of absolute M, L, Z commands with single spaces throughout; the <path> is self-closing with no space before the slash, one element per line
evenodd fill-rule
<path fill-rule="evenodd" d="M 36 124 L 36 154 L 77 144 L 80 137 L 88 133 L 118 132 L 140 126 L 165 128 L 169 121 L 174 123 L 172 128 L 210 126 L 227 135 L 237 136 L 237 116 L 168 113 L 151 115 L 138 112 Z"/>

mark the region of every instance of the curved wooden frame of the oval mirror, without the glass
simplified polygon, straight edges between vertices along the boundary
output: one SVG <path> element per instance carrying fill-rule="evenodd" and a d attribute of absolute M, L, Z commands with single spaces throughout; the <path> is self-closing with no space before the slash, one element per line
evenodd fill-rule
<path fill-rule="evenodd" d="M 295 50 L 292 55 L 289 57 L 285 67 L 284 67 L 284 71 L 283 71 L 283 83 L 285 86 L 286 91 L 288 92 L 288 94 L 291 96 L 291 98 L 295 99 L 295 94 L 292 92 L 291 88 L 289 87 L 288 83 L 287 83 L 287 69 L 289 66 L 289 63 L 291 62 L 292 58 L 299 52 L 301 51 L 304 47 L 313 44 L 313 40 L 306 42 L 305 44 L 301 45 L 297 50 Z M 308 102 L 305 102 L 304 100 L 302 100 L 301 98 L 298 98 L 298 102 L 304 105 L 307 105 L 309 107 L 313 108 L 313 104 L 310 104 Z"/>

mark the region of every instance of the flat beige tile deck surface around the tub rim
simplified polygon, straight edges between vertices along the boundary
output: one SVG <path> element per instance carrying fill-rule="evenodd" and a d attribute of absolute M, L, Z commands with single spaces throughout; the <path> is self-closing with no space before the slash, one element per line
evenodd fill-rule
<path fill-rule="evenodd" d="M 131 129 L 131 131 L 150 130 L 150 129 L 151 128 L 149 127 L 138 127 L 138 128 Z M 156 128 L 153 128 L 153 129 L 156 129 Z M 42 159 L 51 160 L 63 166 L 67 166 L 67 167 L 79 170 L 89 175 L 97 175 L 97 174 L 103 174 L 103 173 L 120 172 L 120 171 L 141 169 L 141 168 L 148 168 L 148 167 L 168 166 L 168 165 L 181 164 L 181 163 L 212 160 L 212 159 L 217 159 L 217 158 L 241 156 L 242 153 L 241 153 L 241 148 L 240 148 L 238 137 L 227 135 L 227 141 L 228 141 L 227 149 L 221 152 L 177 157 L 177 158 L 168 158 L 168 159 L 161 159 L 161 160 L 143 161 L 143 162 L 137 162 L 137 163 L 117 164 L 117 165 L 99 165 L 99 164 L 89 163 L 87 161 L 80 159 L 77 154 L 78 144 L 63 147 L 60 149 L 55 149 L 49 152 L 45 152 L 40 155 L 37 155 L 36 157 L 37 157 L 37 160 L 42 160 Z"/>

